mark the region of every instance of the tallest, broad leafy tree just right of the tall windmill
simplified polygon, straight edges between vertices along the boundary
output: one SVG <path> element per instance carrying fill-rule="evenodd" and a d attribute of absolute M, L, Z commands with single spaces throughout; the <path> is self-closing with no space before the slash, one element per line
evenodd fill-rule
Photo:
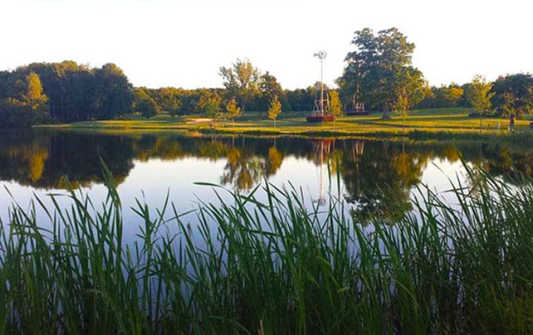
<path fill-rule="evenodd" d="M 383 111 L 383 118 L 389 118 L 398 103 L 405 105 L 406 100 L 410 108 L 423 99 L 423 75 L 411 63 L 415 44 L 398 29 L 376 35 L 366 28 L 356 31 L 351 43 L 356 51 L 346 55 L 348 66 L 338 80 L 345 98 L 357 92 L 358 100 Z"/>

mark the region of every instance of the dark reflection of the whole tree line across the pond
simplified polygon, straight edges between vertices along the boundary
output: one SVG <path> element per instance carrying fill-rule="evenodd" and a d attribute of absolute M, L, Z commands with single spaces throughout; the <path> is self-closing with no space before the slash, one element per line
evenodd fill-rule
<path fill-rule="evenodd" d="M 457 162 L 462 158 L 509 182 L 509 174 L 531 175 L 533 169 L 533 150 L 527 143 L 192 138 L 44 130 L 3 131 L 0 143 L 0 180 L 36 189 L 65 188 L 65 175 L 75 187 L 92 185 L 98 182 L 100 158 L 115 173 L 118 183 L 125 180 L 135 161 L 202 158 L 213 163 L 224 161 L 219 182 L 247 191 L 264 177 L 276 175 L 286 158 L 297 158 L 319 168 L 319 177 L 308 180 L 310 184 L 324 186 L 326 166 L 329 173 L 341 178 L 343 197 L 352 204 L 352 214 L 358 222 L 367 222 L 371 217 L 393 221 L 410 210 L 410 191 L 420 183 L 430 161 Z M 299 173 L 297 168 L 293 173 Z M 476 182 L 472 175 L 470 183 Z M 324 202 L 324 187 L 314 196 Z"/>

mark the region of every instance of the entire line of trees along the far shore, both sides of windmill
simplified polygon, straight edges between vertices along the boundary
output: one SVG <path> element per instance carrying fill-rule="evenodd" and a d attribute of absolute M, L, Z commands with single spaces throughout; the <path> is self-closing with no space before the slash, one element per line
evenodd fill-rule
<path fill-rule="evenodd" d="M 346 68 L 330 90 L 332 112 L 351 110 L 354 102 L 366 109 L 407 115 L 413 108 L 473 108 L 478 115 L 515 115 L 533 110 L 533 78 L 529 73 L 500 76 L 487 83 L 476 76 L 462 86 L 429 86 L 411 57 L 415 44 L 398 29 L 374 33 L 356 31 L 355 49 L 346 55 Z M 108 120 L 128 113 L 152 117 L 159 113 L 203 113 L 216 121 L 222 112 L 234 119 L 242 113 L 281 110 L 309 111 L 317 83 L 286 90 L 269 71 L 247 59 L 219 68 L 224 88 L 134 87 L 115 64 L 90 68 L 74 61 L 31 63 L 14 71 L 0 71 L 0 126 Z"/>

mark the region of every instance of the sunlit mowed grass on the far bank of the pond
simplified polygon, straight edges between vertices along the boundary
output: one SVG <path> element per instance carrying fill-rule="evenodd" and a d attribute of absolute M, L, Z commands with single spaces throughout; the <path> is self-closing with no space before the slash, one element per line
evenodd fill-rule
<path fill-rule="evenodd" d="M 274 128 L 274 121 L 266 113 L 247 113 L 237 118 L 234 123 L 227 118 L 217 120 L 213 127 L 212 120 L 205 115 L 157 115 L 150 119 L 137 115 L 128 116 L 128 120 L 86 121 L 65 125 L 52 125 L 53 128 L 90 128 L 98 130 L 189 130 L 224 133 L 265 133 L 265 134 L 319 134 L 328 135 L 408 135 L 413 131 L 428 133 L 479 134 L 480 118 L 470 118 L 465 108 L 440 108 L 412 110 L 405 118 L 391 113 L 388 120 L 382 119 L 381 113 L 361 116 L 341 116 L 334 123 L 308 123 L 306 113 L 281 113 Z M 529 132 L 529 120 L 516 120 L 514 129 Z M 485 135 L 509 134 L 509 120 L 505 118 L 483 118 L 481 133 Z"/>

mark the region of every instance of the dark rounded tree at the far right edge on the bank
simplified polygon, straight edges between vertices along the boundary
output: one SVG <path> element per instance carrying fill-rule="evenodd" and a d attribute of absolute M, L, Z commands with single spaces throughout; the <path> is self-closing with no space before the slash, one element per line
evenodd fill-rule
<path fill-rule="evenodd" d="M 498 115 L 523 117 L 533 111 L 533 77 L 529 73 L 500 76 L 491 92 L 490 101 Z"/>

